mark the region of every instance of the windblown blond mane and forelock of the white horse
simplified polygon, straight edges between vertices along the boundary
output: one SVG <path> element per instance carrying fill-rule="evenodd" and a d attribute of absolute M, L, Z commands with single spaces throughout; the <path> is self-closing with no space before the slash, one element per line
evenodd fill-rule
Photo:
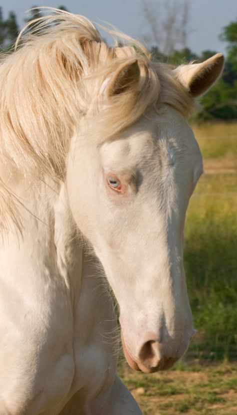
<path fill-rule="evenodd" d="M 63 179 L 65 155 L 79 120 L 91 105 L 96 108 L 103 81 L 124 62 L 137 60 L 139 88 L 111 97 L 109 107 L 94 112 L 98 140 L 116 136 L 151 105 L 166 103 L 189 114 L 193 99 L 171 68 L 152 62 L 139 42 L 119 33 L 129 45 L 109 47 L 86 18 L 43 10 L 50 14 L 26 25 L 15 52 L 1 58 L 0 154 L 9 172 L 13 168 Z M 15 196 L 3 182 L 0 179 L 0 226 L 7 215 L 16 221 Z"/>

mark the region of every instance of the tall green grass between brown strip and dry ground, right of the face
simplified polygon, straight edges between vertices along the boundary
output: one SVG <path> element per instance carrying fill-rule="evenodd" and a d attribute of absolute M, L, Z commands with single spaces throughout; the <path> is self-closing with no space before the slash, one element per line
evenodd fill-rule
<path fill-rule="evenodd" d="M 236 183 L 234 173 L 203 176 L 188 207 L 184 268 L 198 330 L 189 356 L 237 358 Z"/>

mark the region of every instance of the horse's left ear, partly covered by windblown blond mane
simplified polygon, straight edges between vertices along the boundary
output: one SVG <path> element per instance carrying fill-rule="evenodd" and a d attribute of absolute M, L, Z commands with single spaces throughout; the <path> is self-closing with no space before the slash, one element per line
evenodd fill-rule
<path fill-rule="evenodd" d="M 138 85 L 140 79 L 140 68 L 137 60 L 125 62 L 110 78 L 106 87 L 106 96 L 121 94 Z"/>

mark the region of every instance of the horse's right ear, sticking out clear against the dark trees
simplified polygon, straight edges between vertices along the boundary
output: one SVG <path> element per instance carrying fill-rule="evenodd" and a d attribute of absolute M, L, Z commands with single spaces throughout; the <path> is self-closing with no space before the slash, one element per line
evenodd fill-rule
<path fill-rule="evenodd" d="M 174 69 L 175 77 L 196 98 L 211 87 L 221 74 L 224 57 L 217 53 L 198 64 L 181 65 Z"/>

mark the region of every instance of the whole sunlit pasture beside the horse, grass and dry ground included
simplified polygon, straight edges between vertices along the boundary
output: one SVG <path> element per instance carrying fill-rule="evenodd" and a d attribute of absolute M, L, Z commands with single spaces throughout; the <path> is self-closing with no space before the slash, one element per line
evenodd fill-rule
<path fill-rule="evenodd" d="M 237 124 L 193 125 L 205 173 L 190 199 L 184 265 L 194 327 L 174 369 L 120 374 L 144 415 L 237 413 Z"/>

